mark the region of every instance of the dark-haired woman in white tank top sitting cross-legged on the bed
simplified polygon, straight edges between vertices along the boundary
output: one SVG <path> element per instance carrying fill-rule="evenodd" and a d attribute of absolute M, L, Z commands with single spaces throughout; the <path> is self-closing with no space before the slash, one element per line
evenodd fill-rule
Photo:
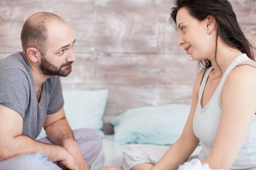
<path fill-rule="evenodd" d="M 170 20 L 178 46 L 202 67 L 190 114 L 165 154 L 160 147 L 127 148 L 124 170 L 176 170 L 199 142 L 202 150 L 193 158 L 211 169 L 256 169 L 256 63 L 230 2 L 176 0 Z"/>

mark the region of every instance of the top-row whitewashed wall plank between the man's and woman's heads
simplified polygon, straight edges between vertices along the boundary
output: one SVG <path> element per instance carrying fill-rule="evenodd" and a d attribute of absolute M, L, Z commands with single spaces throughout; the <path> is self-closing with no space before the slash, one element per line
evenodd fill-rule
<path fill-rule="evenodd" d="M 172 0 L 95 0 L 95 19 L 168 22 Z"/>

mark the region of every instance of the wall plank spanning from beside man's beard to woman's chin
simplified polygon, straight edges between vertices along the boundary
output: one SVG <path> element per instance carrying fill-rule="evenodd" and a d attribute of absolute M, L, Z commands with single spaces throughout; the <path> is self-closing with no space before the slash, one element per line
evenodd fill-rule
<path fill-rule="evenodd" d="M 190 84 L 197 66 L 188 55 L 99 54 L 95 70 L 99 84 Z"/>

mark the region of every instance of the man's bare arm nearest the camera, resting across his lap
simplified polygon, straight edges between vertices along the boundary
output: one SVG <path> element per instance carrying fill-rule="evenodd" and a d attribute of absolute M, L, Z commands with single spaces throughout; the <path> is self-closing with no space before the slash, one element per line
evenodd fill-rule
<path fill-rule="evenodd" d="M 23 119 L 16 111 L 0 104 L 0 161 L 25 153 L 44 152 L 50 161 L 72 157 L 64 148 L 38 142 L 21 135 Z M 69 162 L 70 169 L 75 164 Z"/>

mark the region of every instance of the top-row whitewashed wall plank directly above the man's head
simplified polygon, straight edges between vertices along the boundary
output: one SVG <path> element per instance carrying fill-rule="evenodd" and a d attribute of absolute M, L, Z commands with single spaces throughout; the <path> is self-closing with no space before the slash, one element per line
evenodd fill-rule
<path fill-rule="evenodd" d="M 94 0 L 0 0 L 0 21 L 25 21 L 31 15 L 51 12 L 65 21 L 93 19 Z"/>

